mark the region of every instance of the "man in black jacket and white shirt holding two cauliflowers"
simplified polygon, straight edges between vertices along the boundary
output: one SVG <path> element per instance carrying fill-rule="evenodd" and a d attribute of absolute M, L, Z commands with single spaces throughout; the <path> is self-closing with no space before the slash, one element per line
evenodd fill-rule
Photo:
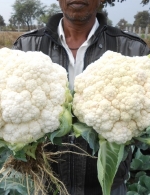
<path fill-rule="evenodd" d="M 107 26 L 104 16 L 97 14 L 101 0 L 59 0 L 59 4 L 63 14 L 51 17 L 45 28 L 18 38 L 14 43 L 14 49 L 42 51 L 49 55 L 53 62 L 68 71 L 71 89 L 75 76 L 107 50 L 128 56 L 149 53 L 147 45 L 140 38 Z M 88 144 L 82 138 L 76 139 L 68 135 L 63 141 L 74 143 L 91 153 Z M 53 146 L 49 149 L 79 152 L 73 147 Z M 131 154 L 121 162 L 111 195 L 126 194 L 124 180 L 130 161 Z M 81 155 L 63 154 L 58 165 L 53 165 L 53 170 L 71 195 L 102 195 L 97 179 L 96 162 L 96 159 Z"/>

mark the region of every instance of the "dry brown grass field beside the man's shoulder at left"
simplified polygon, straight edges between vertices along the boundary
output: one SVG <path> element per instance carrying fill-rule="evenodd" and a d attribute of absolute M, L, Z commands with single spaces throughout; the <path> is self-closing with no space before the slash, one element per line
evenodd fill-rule
<path fill-rule="evenodd" d="M 22 34 L 22 32 L 0 31 L 0 48 L 11 48 L 15 40 Z"/>

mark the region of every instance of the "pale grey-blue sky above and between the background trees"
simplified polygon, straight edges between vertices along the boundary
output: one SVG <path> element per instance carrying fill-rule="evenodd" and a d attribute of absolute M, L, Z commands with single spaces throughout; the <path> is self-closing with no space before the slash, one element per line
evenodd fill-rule
<path fill-rule="evenodd" d="M 56 0 L 40 0 L 44 5 L 50 6 L 52 3 L 57 3 Z M 114 7 L 108 5 L 105 9 L 108 12 L 108 18 L 112 20 L 115 26 L 120 19 L 125 19 L 128 23 L 132 24 L 134 22 L 134 16 L 141 11 L 150 11 L 150 3 L 146 6 L 142 6 L 142 0 L 126 0 L 123 3 L 115 3 Z M 0 0 L 0 15 L 3 16 L 4 21 L 8 24 L 8 20 L 11 16 L 12 5 L 15 0 Z"/>

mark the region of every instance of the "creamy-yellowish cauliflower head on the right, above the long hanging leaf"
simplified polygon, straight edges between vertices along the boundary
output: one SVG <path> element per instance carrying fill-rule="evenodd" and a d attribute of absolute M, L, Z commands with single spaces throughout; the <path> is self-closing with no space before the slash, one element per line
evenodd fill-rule
<path fill-rule="evenodd" d="M 150 58 L 107 51 L 75 78 L 73 112 L 109 142 L 124 144 L 150 126 Z"/>

